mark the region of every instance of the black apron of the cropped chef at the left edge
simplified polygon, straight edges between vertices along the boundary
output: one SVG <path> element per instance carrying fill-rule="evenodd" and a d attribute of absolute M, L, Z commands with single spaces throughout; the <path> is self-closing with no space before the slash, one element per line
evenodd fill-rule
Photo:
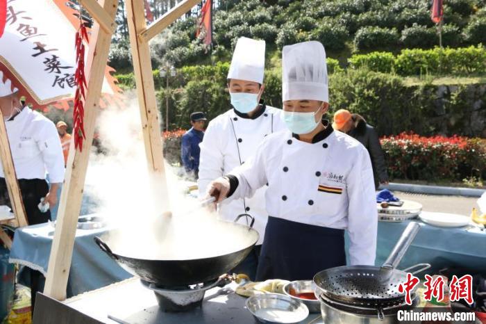
<path fill-rule="evenodd" d="M 44 179 L 19 179 L 18 181 L 27 214 L 28 225 L 41 224 L 42 222 L 51 220 L 50 210 L 41 213 L 37 207 L 40 203 L 40 198 L 45 197 L 49 193 L 47 181 Z M 0 205 L 7 205 L 12 208 L 4 178 L 0 178 Z"/>

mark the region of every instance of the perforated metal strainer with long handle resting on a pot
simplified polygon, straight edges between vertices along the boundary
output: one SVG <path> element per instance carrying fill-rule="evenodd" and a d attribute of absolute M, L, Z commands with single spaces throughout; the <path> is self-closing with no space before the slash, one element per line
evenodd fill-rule
<path fill-rule="evenodd" d="M 406 271 L 418 266 L 422 268 L 414 273 L 430 268 L 430 264 L 417 264 L 405 270 L 395 269 L 419 229 L 417 222 L 408 224 L 383 266 L 341 266 L 322 270 L 315 275 L 315 284 L 330 300 L 347 305 L 383 308 L 401 304 L 404 294 L 399 292 L 399 284 L 406 282 Z"/>

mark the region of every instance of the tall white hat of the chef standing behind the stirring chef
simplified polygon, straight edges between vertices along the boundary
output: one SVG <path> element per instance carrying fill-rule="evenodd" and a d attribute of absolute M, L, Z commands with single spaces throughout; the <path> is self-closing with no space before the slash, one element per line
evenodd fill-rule
<path fill-rule="evenodd" d="M 263 83 L 265 70 L 265 40 L 238 39 L 231 60 L 228 79 Z"/>

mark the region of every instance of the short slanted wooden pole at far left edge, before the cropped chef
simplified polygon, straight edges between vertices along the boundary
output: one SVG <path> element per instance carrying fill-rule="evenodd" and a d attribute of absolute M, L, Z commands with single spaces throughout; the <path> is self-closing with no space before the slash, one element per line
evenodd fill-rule
<path fill-rule="evenodd" d="M 19 182 L 15 174 L 15 167 L 12 160 L 12 152 L 10 152 L 10 144 L 8 143 L 7 129 L 3 121 L 3 115 L 0 111 L 0 159 L 3 166 L 3 175 L 7 184 L 8 196 L 10 197 L 10 204 L 12 205 L 13 213 L 19 221 L 19 226 L 24 227 L 28 225 L 27 217 L 22 202 L 22 195 L 20 194 Z"/>

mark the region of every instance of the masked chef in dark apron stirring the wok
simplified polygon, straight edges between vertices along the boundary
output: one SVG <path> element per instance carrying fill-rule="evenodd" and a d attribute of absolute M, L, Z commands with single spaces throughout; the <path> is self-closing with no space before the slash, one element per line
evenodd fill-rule
<path fill-rule="evenodd" d="M 210 184 L 221 202 L 268 184 L 269 220 L 256 280 L 310 280 L 344 266 L 372 265 L 377 211 L 367 149 L 334 131 L 328 110 L 326 52 L 320 42 L 283 47 L 283 118 L 288 130 L 262 141 L 255 156 Z"/>

